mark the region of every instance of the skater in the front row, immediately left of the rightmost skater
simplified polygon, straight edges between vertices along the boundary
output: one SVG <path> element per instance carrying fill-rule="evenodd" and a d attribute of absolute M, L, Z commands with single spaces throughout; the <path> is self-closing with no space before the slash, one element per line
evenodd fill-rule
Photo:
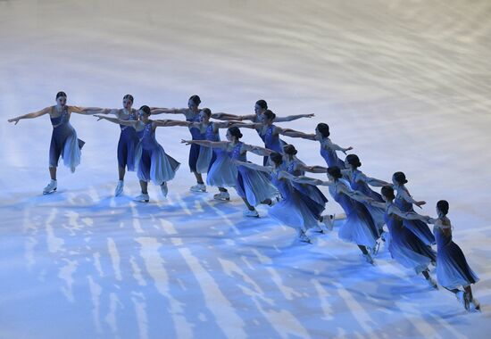
<path fill-rule="evenodd" d="M 404 220 L 422 220 L 429 217 L 420 216 L 414 211 L 401 211 L 394 203 L 395 195 L 392 186 L 383 186 L 382 197 L 385 203 L 379 203 L 371 198 L 366 200 L 379 208 L 385 208 L 386 224 L 390 233 L 388 251 L 392 258 L 407 269 L 414 269 L 416 274 L 422 274 L 428 284 L 437 289 L 437 283 L 429 276 L 429 263 L 437 260 L 436 253 L 415 236 L 408 227 L 404 227 Z M 438 263 L 439 264 L 439 263 Z"/>

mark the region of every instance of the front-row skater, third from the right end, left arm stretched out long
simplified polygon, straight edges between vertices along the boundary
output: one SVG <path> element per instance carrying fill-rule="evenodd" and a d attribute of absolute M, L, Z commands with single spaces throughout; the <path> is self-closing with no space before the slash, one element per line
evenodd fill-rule
<path fill-rule="evenodd" d="M 345 242 L 357 244 L 365 260 L 373 264 L 369 250 L 371 251 L 377 244 L 377 239 L 379 238 L 378 229 L 371 218 L 370 212 L 364 204 L 359 202 L 364 202 L 366 197 L 350 188 L 349 183 L 343 179 L 341 170 L 338 167 L 329 167 L 329 181 L 308 177 L 294 177 L 291 174 L 286 174 L 285 176 L 300 184 L 329 186 L 329 193 L 346 213 L 345 223 L 339 228 L 338 236 Z"/>

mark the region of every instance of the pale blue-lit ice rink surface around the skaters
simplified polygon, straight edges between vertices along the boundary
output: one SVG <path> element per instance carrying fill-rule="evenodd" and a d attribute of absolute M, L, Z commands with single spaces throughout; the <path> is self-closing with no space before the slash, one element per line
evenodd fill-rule
<path fill-rule="evenodd" d="M 489 18 L 487 0 L 1 0 L 0 337 L 487 337 Z M 134 173 L 112 197 L 119 128 L 73 114 L 82 164 L 61 166 L 59 192 L 43 196 L 49 119 L 6 120 L 60 90 L 80 106 L 119 108 L 129 93 L 136 107 L 185 107 L 199 94 L 214 112 L 250 114 L 263 98 L 278 115 L 315 113 L 282 126 L 327 122 L 368 175 L 404 170 L 423 213 L 450 202 L 482 313 L 430 290 L 383 246 L 370 266 L 336 228 L 302 244 L 265 207 L 242 217 L 235 192 L 230 203 L 213 201 L 213 187 L 191 194 L 186 128 L 157 129 L 183 165 L 168 199 L 150 186 L 138 204 Z M 317 143 L 285 139 L 325 164 Z"/>

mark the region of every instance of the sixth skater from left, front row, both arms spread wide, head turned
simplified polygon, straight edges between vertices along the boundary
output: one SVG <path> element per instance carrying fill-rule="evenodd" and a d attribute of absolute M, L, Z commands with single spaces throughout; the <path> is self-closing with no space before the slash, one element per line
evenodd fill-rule
<path fill-rule="evenodd" d="M 247 161 L 247 152 L 258 155 L 270 155 L 272 151 L 253 145 L 247 145 L 240 141 L 242 133 L 237 127 L 227 130 L 228 141 L 208 141 L 208 140 L 182 140 L 186 145 L 203 145 L 206 147 L 218 148 L 227 152 L 233 160 Z M 270 179 L 265 175 L 259 174 L 255 170 L 250 170 L 244 166 L 237 166 L 237 178 L 235 188 L 237 194 L 242 198 L 247 210 L 244 211 L 245 217 L 259 217 L 254 206 L 260 203 L 272 204 L 278 196 L 278 190 L 271 184 Z"/>

